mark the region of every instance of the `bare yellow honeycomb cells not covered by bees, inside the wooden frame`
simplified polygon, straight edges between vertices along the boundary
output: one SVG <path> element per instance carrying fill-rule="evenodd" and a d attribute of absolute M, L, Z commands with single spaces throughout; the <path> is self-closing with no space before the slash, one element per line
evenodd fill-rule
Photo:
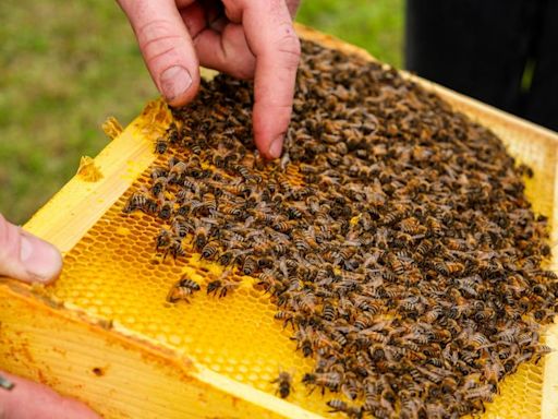
<path fill-rule="evenodd" d="M 313 360 L 295 351 L 289 338 L 291 331 L 274 319 L 276 306 L 253 287 L 253 278 L 236 277 L 241 286 L 227 298 L 197 292 L 191 303 L 166 302 L 169 289 L 184 273 L 206 285 L 222 273 L 222 267 L 202 260 L 187 247 L 186 262 L 174 262 L 170 256 L 161 260 L 154 251 L 160 220 L 142 212 L 122 213 L 131 193 L 148 183 L 149 171 L 145 170 L 65 254 L 62 276 L 48 292 L 269 394 L 276 394 L 277 384 L 271 381 L 279 371 L 289 371 L 294 391 L 288 400 L 332 416 L 325 405 L 327 394 L 308 394 L 300 384 L 302 375 L 312 370 Z M 294 172 L 291 181 L 300 183 Z M 541 417 L 543 363 L 523 364 L 506 379 L 500 395 L 487 404 L 483 417 Z"/>

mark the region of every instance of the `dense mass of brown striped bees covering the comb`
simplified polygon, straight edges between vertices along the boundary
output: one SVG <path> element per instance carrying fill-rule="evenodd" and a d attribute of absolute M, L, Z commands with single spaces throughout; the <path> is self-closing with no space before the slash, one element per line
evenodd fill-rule
<path fill-rule="evenodd" d="M 283 157 L 251 133 L 252 84 L 218 75 L 174 109 L 151 183 L 124 212 L 160 219 L 155 248 L 185 248 L 255 278 L 314 370 L 310 391 L 349 417 L 456 418 L 550 349 L 557 311 L 547 220 L 492 132 L 381 64 L 303 41 Z M 182 277 L 169 301 L 201 286 Z M 292 380 L 275 381 L 288 397 Z"/>

